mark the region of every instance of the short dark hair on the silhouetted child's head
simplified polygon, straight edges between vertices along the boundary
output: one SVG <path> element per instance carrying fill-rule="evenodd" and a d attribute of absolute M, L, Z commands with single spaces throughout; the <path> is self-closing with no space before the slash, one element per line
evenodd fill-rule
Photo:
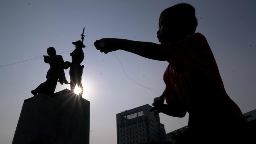
<path fill-rule="evenodd" d="M 182 26 L 185 32 L 193 33 L 196 31 L 197 19 L 195 16 L 195 8 L 187 3 L 180 3 L 163 10 L 161 16 L 169 17 L 178 26 Z"/>

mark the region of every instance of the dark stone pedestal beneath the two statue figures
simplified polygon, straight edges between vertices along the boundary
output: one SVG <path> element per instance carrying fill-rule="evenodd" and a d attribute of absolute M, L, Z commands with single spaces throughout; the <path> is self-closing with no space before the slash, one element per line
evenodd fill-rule
<path fill-rule="evenodd" d="M 90 102 L 65 89 L 24 100 L 12 144 L 89 144 Z"/>

